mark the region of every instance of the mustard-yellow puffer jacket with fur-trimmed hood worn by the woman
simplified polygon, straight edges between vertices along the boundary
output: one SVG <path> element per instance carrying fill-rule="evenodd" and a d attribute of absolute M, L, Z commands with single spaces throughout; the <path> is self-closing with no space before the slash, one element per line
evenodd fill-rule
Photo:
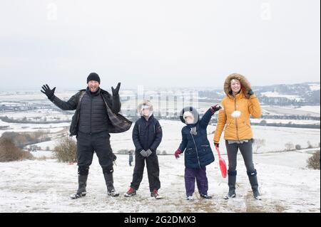
<path fill-rule="evenodd" d="M 240 80 L 242 84 L 241 92 L 233 97 L 230 95 L 230 80 Z M 243 75 L 232 74 L 225 80 L 224 90 L 227 97 L 223 98 L 221 105 L 224 110 L 218 114 L 218 125 L 214 134 L 214 142 L 220 142 L 220 137 L 225 127 L 224 139 L 240 140 L 252 139 L 253 132 L 250 126 L 250 115 L 259 118 L 262 115 L 260 102 L 256 95 L 248 95 L 250 83 Z M 245 95 L 246 94 L 246 95 Z M 240 111 L 239 117 L 233 117 L 233 112 Z"/>

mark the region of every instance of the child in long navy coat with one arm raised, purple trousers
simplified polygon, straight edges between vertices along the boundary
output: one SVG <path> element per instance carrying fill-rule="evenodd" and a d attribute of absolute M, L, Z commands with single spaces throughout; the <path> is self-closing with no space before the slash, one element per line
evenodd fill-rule
<path fill-rule="evenodd" d="M 180 112 L 180 120 L 186 126 L 183 127 L 182 142 L 175 152 L 175 157 L 178 159 L 180 154 L 185 152 L 185 189 L 188 200 L 193 200 L 195 179 L 200 196 L 205 199 L 212 198 L 212 196 L 208 196 L 206 166 L 214 162 L 214 155 L 210 148 L 206 129 L 210 118 L 220 109 L 220 105 L 210 107 L 201 120 L 197 110 L 193 107 L 185 107 Z"/>

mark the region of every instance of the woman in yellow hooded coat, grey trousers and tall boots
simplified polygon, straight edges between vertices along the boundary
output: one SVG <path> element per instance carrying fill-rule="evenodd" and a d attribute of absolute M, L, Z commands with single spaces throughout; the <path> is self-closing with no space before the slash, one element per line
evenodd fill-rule
<path fill-rule="evenodd" d="M 224 132 L 226 149 L 228 151 L 228 195 L 225 199 L 234 198 L 236 183 L 236 164 L 238 150 L 243 156 L 248 178 L 255 199 L 260 199 L 258 191 L 257 171 L 253 164 L 253 132 L 250 126 L 250 115 L 261 116 L 258 97 L 253 93 L 248 80 L 238 73 L 226 78 L 224 83 L 226 97 L 222 100 L 223 111 L 218 115 L 218 125 L 214 134 L 214 144 L 219 146 L 220 137 Z M 225 128 L 224 128 L 225 127 Z"/>

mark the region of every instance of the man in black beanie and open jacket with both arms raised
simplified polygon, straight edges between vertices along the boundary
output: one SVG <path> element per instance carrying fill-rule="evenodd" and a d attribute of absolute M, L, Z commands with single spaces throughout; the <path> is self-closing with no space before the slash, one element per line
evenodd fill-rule
<path fill-rule="evenodd" d="M 101 79 L 97 73 L 88 75 L 86 90 L 80 90 L 67 102 L 60 100 L 54 92 L 44 85 L 41 90 L 61 110 L 76 110 L 70 127 L 70 135 L 77 138 L 78 191 L 71 199 L 86 196 L 86 184 L 89 167 L 96 152 L 99 164 L 103 169 L 108 196 L 119 196 L 113 186 L 113 160 L 115 156 L 111 149 L 110 134 L 126 132 L 132 122 L 122 115 L 118 83 L 116 89 L 111 88 L 113 95 L 99 88 Z"/>

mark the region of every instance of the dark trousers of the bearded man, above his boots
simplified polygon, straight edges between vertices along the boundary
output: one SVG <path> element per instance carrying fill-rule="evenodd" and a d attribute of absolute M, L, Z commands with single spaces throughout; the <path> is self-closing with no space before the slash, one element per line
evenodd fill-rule
<path fill-rule="evenodd" d="M 77 135 L 78 174 L 88 175 L 89 167 L 93 162 L 93 153 L 96 152 L 103 173 L 113 171 L 113 151 L 108 132 Z"/>

